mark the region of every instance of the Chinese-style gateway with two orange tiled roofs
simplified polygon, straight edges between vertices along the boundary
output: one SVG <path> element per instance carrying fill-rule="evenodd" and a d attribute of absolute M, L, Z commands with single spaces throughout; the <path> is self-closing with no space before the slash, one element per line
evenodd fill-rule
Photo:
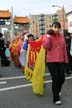
<path fill-rule="evenodd" d="M 9 10 L 0 10 L 0 31 L 5 35 L 6 41 L 14 38 L 13 34 L 17 32 L 23 33 L 24 29 L 29 30 L 29 18 L 27 16 L 13 17 Z"/>

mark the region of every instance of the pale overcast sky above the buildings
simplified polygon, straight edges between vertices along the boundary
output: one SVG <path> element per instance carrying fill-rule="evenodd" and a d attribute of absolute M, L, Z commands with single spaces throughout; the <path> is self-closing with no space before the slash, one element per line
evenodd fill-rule
<path fill-rule="evenodd" d="M 13 14 L 16 16 L 51 14 L 59 9 L 52 5 L 64 5 L 66 12 L 72 11 L 72 0 L 0 0 L 0 10 L 11 10 L 13 7 Z"/>

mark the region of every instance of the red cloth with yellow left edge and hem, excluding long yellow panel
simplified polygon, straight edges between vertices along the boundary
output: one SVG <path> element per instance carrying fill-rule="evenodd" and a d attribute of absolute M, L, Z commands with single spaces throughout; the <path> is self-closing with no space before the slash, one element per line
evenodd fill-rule
<path fill-rule="evenodd" d="M 33 77 L 33 71 L 35 67 L 36 58 L 37 58 L 37 55 L 39 54 L 41 44 L 42 44 L 42 38 L 39 38 L 36 41 L 32 41 L 28 43 L 26 66 L 25 66 L 24 72 L 26 75 L 26 79 L 31 80 L 31 81 Z M 33 68 L 30 68 L 30 65 L 32 65 Z"/>

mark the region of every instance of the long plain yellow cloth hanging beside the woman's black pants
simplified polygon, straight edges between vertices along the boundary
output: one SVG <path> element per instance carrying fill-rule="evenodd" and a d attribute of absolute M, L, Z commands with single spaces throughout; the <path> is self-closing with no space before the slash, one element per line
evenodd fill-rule
<path fill-rule="evenodd" d="M 37 56 L 33 77 L 32 88 L 35 94 L 43 95 L 44 93 L 44 74 L 45 74 L 45 49 L 41 47 Z"/>

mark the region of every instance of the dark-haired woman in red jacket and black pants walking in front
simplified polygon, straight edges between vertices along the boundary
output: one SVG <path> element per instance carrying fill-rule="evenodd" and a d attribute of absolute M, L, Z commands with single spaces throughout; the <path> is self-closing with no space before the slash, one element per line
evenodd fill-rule
<path fill-rule="evenodd" d="M 65 81 L 64 64 L 68 63 L 66 43 L 64 36 L 60 34 L 61 24 L 53 22 L 54 33 L 45 34 L 43 47 L 46 49 L 46 63 L 52 78 L 53 102 L 61 105 L 61 89 Z"/>

